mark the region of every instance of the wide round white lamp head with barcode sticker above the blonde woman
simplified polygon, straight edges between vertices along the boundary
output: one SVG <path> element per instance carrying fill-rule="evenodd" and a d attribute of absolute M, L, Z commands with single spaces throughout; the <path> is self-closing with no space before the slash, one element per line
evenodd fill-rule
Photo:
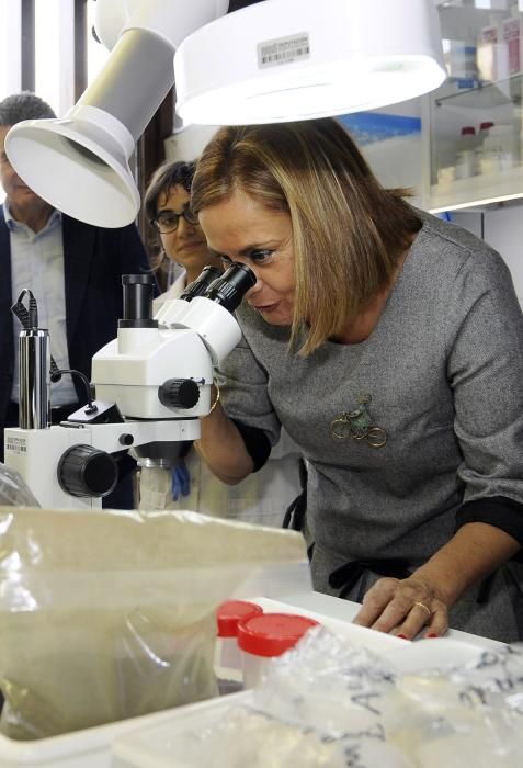
<path fill-rule="evenodd" d="M 371 110 L 445 76 L 433 0 L 265 0 L 196 30 L 174 56 L 184 124 Z"/>

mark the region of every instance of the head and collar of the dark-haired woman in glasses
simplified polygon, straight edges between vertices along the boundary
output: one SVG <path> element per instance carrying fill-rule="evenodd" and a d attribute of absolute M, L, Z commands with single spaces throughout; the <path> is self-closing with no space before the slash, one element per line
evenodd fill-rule
<path fill-rule="evenodd" d="M 223 269 L 221 260 L 209 251 L 205 235 L 190 207 L 194 162 L 164 162 L 154 173 L 145 194 L 145 210 L 163 258 L 157 267 L 171 273 L 181 268 L 173 284 L 154 303 L 154 312 L 171 298 L 179 298 L 185 286 L 196 280 L 204 267 Z"/>

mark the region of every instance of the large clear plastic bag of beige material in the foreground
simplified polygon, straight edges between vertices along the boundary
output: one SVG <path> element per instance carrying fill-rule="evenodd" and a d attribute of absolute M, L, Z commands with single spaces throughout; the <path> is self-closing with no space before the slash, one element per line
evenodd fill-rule
<path fill-rule="evenodd" d="M 274 573 L 306 563 L 299 534 L 196 512 L 0 509 L 1 732 L 43 738 L 217 696 L 217 606 L 253 573 L 274 591 Z"/>

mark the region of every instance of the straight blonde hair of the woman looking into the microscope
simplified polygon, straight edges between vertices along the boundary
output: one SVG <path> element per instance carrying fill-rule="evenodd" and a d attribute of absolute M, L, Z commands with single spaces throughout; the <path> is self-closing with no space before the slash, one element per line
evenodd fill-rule
<path fill-rule="evenodd" d="M 291 216 L 292 342 L 305 331 L 304 355 L 387 286 L 421 228 L 408 190 L 384 189 L 333 118 L 220 128 L 197 162 L 191 205 L 200 212 L 235 190 Z"/>

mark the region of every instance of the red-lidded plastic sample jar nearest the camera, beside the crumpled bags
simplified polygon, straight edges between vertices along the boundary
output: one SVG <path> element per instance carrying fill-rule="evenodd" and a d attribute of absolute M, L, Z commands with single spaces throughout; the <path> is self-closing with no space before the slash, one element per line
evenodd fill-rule
<path fill-rule="evenodd" d="M 263 613 L 238 622 L 238 647 L 241 651 L 243 687 L 253 688 L 271 658 L 281 656 L 318 622 L 294 613 Z"/>

